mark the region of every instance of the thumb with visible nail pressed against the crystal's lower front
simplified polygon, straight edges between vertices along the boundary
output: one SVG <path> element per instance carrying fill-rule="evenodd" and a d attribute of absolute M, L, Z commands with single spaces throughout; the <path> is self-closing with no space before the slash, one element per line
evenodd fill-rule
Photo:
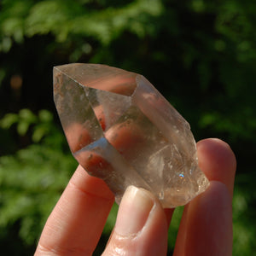
<path fill-rule="evenodd" d="M 166 255 L 167 230 L 160 202 L 147 190 L 130 186 L 102 255 Z"/>

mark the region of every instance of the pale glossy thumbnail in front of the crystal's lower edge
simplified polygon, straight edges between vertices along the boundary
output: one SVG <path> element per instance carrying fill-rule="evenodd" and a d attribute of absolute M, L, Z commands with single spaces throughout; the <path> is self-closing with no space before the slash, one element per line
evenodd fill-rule
<path fill-rule="evenodd" d="M 149 192 L 128 187 L 120 203 L 115 231 L 120 236 L 131 236 L 143 229 L 149 213 L 154 206 L 154 199 Z"/>

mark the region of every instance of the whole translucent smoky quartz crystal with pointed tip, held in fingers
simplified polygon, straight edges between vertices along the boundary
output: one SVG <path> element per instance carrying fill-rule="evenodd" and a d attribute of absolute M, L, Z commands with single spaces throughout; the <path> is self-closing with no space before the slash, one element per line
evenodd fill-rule
<path fill-rule="evenodd" d="M 100 64 L 54 67 L 54 99 L 73 156 L 118 203 L 129 185 L 163 207 L 207 189 L 189 124 L 142 75 Z"/>

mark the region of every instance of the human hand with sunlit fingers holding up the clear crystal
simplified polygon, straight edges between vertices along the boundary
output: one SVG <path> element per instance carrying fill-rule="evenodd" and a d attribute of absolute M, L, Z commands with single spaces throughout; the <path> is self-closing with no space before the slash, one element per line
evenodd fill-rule
<path fill-rule="evenodd" d="M 202 140 L 197 149 L 210 186 L 184 207 L 174 255 L 231 255 L 235 155 L 218 139 Z M 106 183 L 79 166 L 44 226 L 35 255 L 91 255 L 113 201 Z M 102 255 L 166 255 L 172 212 L 148 191 L 129 187 Z"/>

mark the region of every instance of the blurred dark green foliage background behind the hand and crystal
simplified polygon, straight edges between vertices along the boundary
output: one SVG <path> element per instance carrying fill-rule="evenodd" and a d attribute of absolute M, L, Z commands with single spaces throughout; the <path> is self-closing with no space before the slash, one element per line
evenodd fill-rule
<path fill-rule="evenodd" d="M 105 63 L 146 76 L 238 160 L 234 255 L 253 255 L 256 3 L 251 0 L 2 0 L 0 246 L 32 253 L 73 160 L 52 100 L 52 67 Z M 112 229 L 113 207 L 96 254 Z M 170 254 L 182 209 L 172 222 Z"/>

